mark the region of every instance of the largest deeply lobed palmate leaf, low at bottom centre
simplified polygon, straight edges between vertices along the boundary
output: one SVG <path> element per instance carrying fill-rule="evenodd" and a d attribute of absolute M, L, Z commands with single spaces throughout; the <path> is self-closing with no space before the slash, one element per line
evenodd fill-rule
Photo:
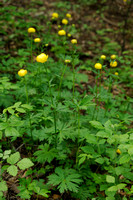
<path fill-rule="evenodd" d="M 80 174 L 74 169 L 62 169 L 57 167 L 55 169 L 55 174 L 52 174 L 48 177 L 48 184 L 53 186 L 58 185 L 60 193 L 65 191 L 78 192 L 79 184 L 82 182 L 80 179 Z"/>

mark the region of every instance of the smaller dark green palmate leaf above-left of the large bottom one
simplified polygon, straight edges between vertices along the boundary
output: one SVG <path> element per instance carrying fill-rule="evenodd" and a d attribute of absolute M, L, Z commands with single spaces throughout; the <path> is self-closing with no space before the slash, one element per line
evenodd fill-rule
<path fill-rule="evenodd" d="M 40 163 L 48 162 L 50 163 L 54 158 L 57 157 L 57 150 L 55 148 L 51 148 L 49 150 L 49 145 L 40 145 L 40 150 L 36 151 L 34 153 L 35 156 L 37 156 L 36 160 Z"/>

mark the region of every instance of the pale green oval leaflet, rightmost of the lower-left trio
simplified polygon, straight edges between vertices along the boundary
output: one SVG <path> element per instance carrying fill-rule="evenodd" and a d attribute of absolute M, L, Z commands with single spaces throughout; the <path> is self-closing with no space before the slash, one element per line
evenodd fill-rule
<path fill-rule="evenodd" d="M 23 158 L 17 163 L 17 166 L 23 170 L 32 167 L 33 165 L 34 163 L 29 158 Z"/>

